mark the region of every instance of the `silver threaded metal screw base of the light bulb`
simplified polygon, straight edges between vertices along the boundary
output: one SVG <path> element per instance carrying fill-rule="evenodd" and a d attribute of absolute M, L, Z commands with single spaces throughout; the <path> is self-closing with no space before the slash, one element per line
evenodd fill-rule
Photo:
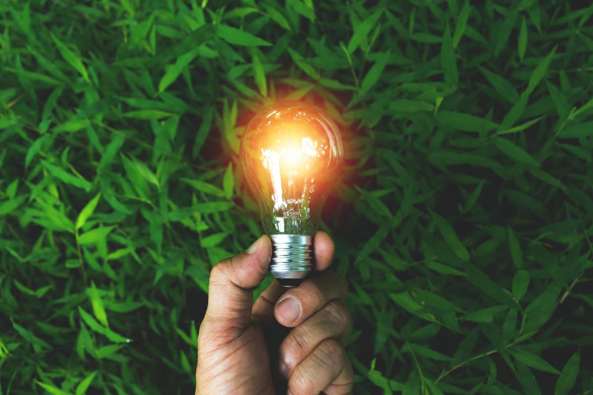
<path fill-rule="evenodd" d="M 270 272 L 283 287 L 297 287 L 313 268 L 313 236 L 269 236 L 272 240 Z"/>

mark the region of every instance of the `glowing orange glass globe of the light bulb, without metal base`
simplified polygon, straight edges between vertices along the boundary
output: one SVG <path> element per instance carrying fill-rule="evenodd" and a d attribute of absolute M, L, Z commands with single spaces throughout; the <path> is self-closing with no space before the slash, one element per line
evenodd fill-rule
<path fill-rule="evenodd" d="M 241 139 L 241 164 L 260 205 L 273 211 L 276 232 L 318 216 L 342 151 L 338 127 L 313 105 L 278 102 L 251 120 Z"/>

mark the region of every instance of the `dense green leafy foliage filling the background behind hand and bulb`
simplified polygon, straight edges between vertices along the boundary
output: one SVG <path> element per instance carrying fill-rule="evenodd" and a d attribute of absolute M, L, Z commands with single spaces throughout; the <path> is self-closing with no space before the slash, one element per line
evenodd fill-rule
<path fill-rule="evenodd" d="M 192 393 L 209 269 L 260 234 L 238 136 L 282 98 L 345 138 L 356 394 L 593 391 L 593 6 L 0 15 L 1 394 Z"/>

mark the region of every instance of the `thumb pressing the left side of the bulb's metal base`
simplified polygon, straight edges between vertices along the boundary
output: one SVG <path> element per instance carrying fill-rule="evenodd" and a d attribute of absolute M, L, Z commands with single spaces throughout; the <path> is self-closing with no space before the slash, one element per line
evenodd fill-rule
<path fill-rule="evenodd" d="M 266 277 L 272 243 L 261 236 L 246 251 L 218 262 L 210 272 L 205 320 L 218 330 L 243 330 L 251 319 L 253 288 Z"/>

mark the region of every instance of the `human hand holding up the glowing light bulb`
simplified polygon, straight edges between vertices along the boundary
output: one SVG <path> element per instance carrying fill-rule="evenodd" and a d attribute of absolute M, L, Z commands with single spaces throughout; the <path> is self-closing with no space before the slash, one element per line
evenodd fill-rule
<path fill-rule="evenodd" d="M 286 380 L 291 395 L 352 393 L 352 365 L 344 349 L 350 330 L 347 284 L 325 271 L 333 252 L 331 237 L 317 232 L 311 278 L 297 288 L 274 281 L 255 303 L 252 290 L 270 263 L 269 237 L 212 268 L 197 339 L 196 395 L 275 394 L 285 390 Z M 287 336 L 280 325 L 289 328 Z"/>

